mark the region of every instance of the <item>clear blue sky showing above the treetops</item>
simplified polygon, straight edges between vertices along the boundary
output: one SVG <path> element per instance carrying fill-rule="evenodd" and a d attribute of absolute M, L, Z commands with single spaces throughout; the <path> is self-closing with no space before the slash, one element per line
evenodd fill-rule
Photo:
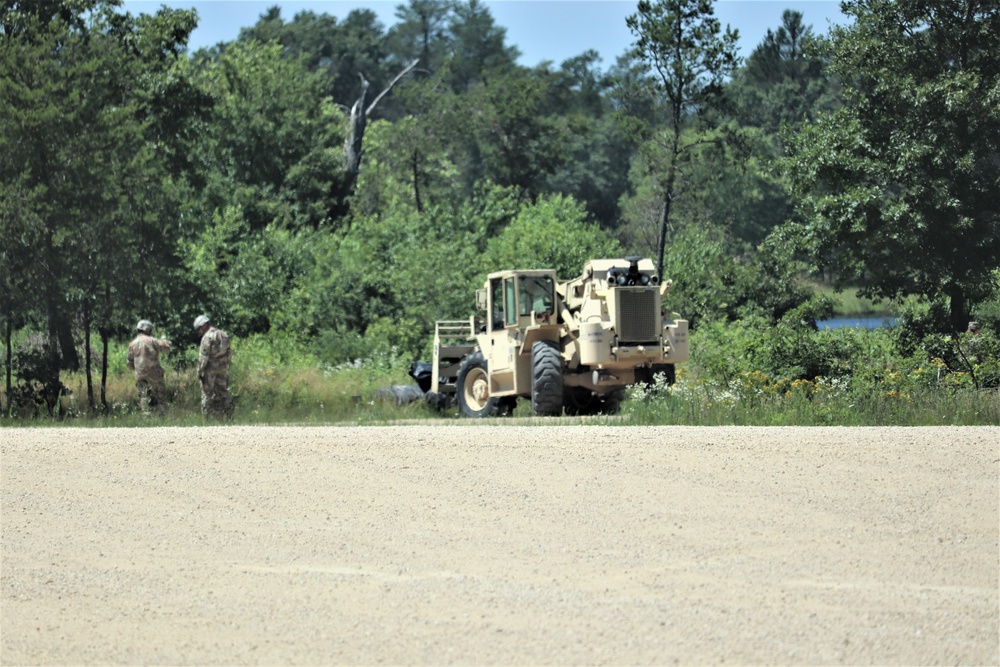
<path fill-rule="evenodd" d="M 286 21 L 300 11 L 344 18 L 352 9 L 374 10 L 388 29 L 396 23 L 395 10 L 406 0 L 126 0 L 126 11 L 155 13 L 162 6 L 198 10 L 198 28 L 191 36 L 192 50 L 230 42 L 240 28 L 257 22 L 274 5 L 281 7 Z M 603 59 L 603 69 L 615 62 L 632 43 L 625 18 L 635 13 L 634 0 L 486 0 L 497 25 L 507 30 L 507 45 L 521 51 L 521 64 L 534 66 L 563 60 L 595 49 Z M 717 0 L 715 14 L 723 25 L 740 31 L 741 54 L 746 57 L 760 43 L 768 28 L 781 25 L 785 9 L 802 12 L 806 25 L 825 34 L 832 23 L 843 23 L 840 3 L 831 0 Z"/>

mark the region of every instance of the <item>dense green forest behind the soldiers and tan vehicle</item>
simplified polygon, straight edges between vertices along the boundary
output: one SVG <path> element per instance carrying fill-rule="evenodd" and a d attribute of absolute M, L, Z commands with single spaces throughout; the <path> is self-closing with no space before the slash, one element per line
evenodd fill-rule
<path fill-rule="evenodd" d="M 995 2 L 850 0 L 829 34 L 786 11 L 744 60 L 710 0 L 643 0 L 607 70 L 518 65 L 477 0 L 409 0 L 388 28 L 272 8 L 194 53 L 191 10 L 0 7 L 7 415 L 123 405 L 140 318 L 175 342 L 182 404 L 201 313 L 237 341 L 244 404 L 328 404 L 316 385 L 359 392 L 331 374 L 429 358 L 490 271 L 638 254 L 691 322 L 688 419 L 755 396 L 812 419 L 831 388 L 827 420 L 861 394 L 870 421 L 926 412 L 924 390 L 944 421 L 963 390 L 959 419 L 1000 419 Z M 897 326 L 817 331 L 844 287 Z"/>

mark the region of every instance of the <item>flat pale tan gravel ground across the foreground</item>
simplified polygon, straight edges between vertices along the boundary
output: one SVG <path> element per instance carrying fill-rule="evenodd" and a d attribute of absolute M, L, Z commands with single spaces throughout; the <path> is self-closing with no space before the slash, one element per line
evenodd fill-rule
<path fill-rule="evenodd" d="M 1000 661 L 1000 428 L 0 442 L 3 665 Z"/>

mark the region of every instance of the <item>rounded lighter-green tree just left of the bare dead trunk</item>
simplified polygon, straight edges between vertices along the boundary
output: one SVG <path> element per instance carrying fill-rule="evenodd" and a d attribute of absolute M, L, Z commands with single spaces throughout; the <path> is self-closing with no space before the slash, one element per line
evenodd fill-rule
<path fill-rule="evenodd" d="M 196 81 L 216 101 L 200 148 L 206 219 L 237 206 L 259 231 L 274 221 L 316 228 L 342 217 L 344 119 L 305 56 L 240 41 L 196 66 Z"/>

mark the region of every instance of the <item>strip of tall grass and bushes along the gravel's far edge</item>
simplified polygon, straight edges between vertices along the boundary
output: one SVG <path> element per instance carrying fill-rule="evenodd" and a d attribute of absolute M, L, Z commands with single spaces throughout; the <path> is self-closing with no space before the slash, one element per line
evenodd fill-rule
<path fill-rule="evenodd" d="M 930 341 L 930 339 L 928 339 Z M 938 340 L 938 339 L 934 339 Z M 631 387 L 615 416 L 574 422 L 691 426 L 927 426 L 1000 424 L 1000 363 L 992 355 L 960 368 L 945 361 L 956 341 L 925 345 L 912 357 L 894 352 L 887 331 L 809 332 L 777 326 L 706 324 L 692 334 L 693 359 L 679 367 L 677 383 Z M 933 341 L 931 341 L 933 342 Z M 950 346 L 950 347 L 949 347 Z M 411 360 L 394 354 L 352 363 L 324 363 L 293 340 L 234 340 L 230 388 L 237 424 L 382 424 L 458 418 L 420 401 L 398 406 L 376 397 L 380 387 L 413 384 Z M 69 393 L 61 411 L 25 407 L 0 424 L 74 426 L 188 426 L 217 423 L 201 415 L 201 391 L 193 347 L 165 357 L 169 411 L 140 413 L 135 381 L 125 368 L 124 345 L 112 348 L 107 407 L 91 406 L 83 373 L 63 376 Z M 975 377 L 974 377 L 975 375 Z M 985 379 L 985 381 L 984 381 Z M 94 378 L 95 401 L 100 387 Z M 992 387 L 992 388 L 990 388 Z M 534 419 L 528 401 L 514 411 L 519 423 Z M 468 422 L 477 423 L 477 422 Z M 484 425 L 509 420 L 482 420 Z M 560 423 L 560 422 L 555 422 Z"/>

